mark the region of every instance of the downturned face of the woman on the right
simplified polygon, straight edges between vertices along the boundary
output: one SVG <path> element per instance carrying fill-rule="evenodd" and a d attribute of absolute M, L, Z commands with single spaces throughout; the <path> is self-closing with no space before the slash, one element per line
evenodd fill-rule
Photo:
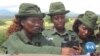
<path fill-rule="evenodd" d="M 79 27 L 79 36 L 82 37 L 82 38 L 87 38 L 88 36 L 92 35 L 93 34 L 93 30 L 86 27 L 85 25 L 81 24 Z"/>

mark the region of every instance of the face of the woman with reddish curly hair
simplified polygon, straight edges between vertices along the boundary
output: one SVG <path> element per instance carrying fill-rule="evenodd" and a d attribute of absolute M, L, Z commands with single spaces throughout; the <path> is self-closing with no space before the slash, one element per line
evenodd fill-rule
<path fill-rule="evenodd" d="M 23 29 L 29 33 L 39 33 L 43 28 L 43 20 L 40 17 L 28 17 L 22 22 Z"/>

